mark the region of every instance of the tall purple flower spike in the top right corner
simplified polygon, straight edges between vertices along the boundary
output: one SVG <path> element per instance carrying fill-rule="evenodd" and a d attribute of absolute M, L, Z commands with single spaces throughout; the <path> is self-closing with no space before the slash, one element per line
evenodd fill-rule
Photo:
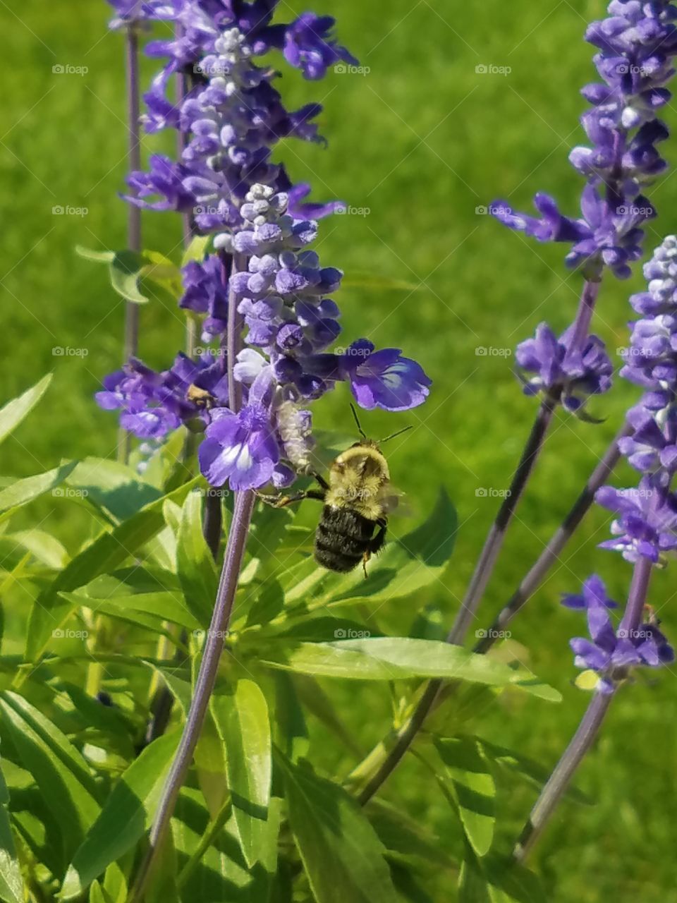
<path fill-rule="evenodd" d="M 492 207 L 509 228 L 539 241 L 570 243 L 567 264 L 583 266 L 593 279 L 604 266 L 626 278 L 630 264 L 642 256 L 640 227 L 655 215 L 643 191 L 667 167 L 656 144 L 669 132 L 656 112 L 671 98 L 665 85 L 677 55 L 676 14 L 669 3 L 611 0 L 608 13 L 586 34 L 599 48 L 595 65 L 602 79 L 583 89 L 592 108 L 581 121 L 592 146 L 570 153 L 570 163 L 587 182 L 583 219 L 563 216 L 545 194 L 534 200 L 541 219 L 515 213 L 505 201 Z"/>

